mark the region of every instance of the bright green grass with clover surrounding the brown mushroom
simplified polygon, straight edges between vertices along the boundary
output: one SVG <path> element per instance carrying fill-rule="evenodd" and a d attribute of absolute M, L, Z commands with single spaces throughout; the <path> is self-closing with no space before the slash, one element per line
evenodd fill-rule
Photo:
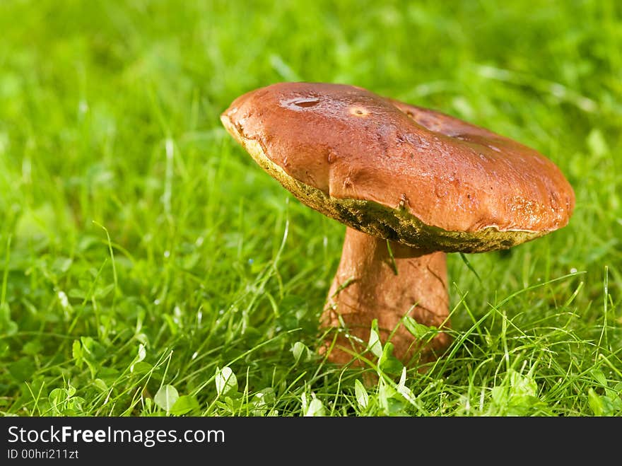
<path fill-rule="evenodd" d="M 0 3 L 0 411 L 622 414 L 618 2 L 276 3 Z M 315 354 L 344 226 L 218 120 L 295 80 L 481 124 L 575 187 L 567 228 L 469 255 L 481 280 L 448 257 L 427 373 Z"/>

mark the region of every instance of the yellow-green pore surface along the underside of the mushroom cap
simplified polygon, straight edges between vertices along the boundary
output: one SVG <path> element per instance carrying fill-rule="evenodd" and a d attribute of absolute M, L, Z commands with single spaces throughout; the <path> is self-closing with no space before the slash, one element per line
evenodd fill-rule
<path fill-rule="evenodd" d="M 486 252 L 507 249 L 548 233 L 548 231 L 498 231 L 494 227 L 472 232 L 445 231 L 426 225 L 406 209 L 394 209 L 362 199 L 331 197 L 288 175 L 283 168 L 271 161 L 258 141 L 240 134 L 226 115 L 223 115 L 221 120 L 228 132 L 242 144 L 254 161 L 301 202 L 369 235 L 422 250 Z"/>

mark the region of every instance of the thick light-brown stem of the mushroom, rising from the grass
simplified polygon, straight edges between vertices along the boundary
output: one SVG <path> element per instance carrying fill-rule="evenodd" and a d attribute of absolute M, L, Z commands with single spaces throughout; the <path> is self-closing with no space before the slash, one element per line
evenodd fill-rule
<path fill-rule="evenodd" d="M 430 253 L 393 242 L 389 245 L 390 251 L 387 240 L 346 229 L 341 262 L 322 314 L 322 327 L 341 327 L 329 361 L 351 361 L 351 354 L 340 346 L 357 353 L 363 351 L 374 319 L 383 344 L 390 335 L 394 356 L 404 363 L 417 356 L 420 362 L 433 360 L 436 352 L 449 345 L 450 337 L 445 332 L 417 342 L 401 322 L 408 314 L 423 325 L 450 325 L 445 252 Z M 328 334 L 326 350 L 333 337 Z"/>

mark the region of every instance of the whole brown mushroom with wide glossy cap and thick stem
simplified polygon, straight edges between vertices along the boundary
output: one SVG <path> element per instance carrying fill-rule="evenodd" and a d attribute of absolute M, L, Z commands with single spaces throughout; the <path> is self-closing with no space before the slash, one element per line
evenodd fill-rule
<path fill-rule="evenodd" d="M 574 209 L 572 187 L 534 149 L 356 86 L 276 83 L 221 120 L 283 187 L 347 226 L 321 318 L 337 330 L 323 347 L 336 363 L 365 350 L 374 320 L 404 363 L 438 357 L 450 344 L 445 253 L 507 249 Z M 418 341 L 406 315 L 439 331 Z"/>

